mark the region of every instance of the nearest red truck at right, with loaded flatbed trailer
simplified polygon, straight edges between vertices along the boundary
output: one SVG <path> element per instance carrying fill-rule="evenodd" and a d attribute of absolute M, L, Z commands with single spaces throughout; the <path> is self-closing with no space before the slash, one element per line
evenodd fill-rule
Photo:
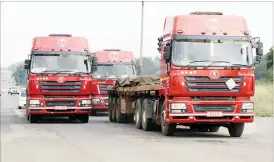
<path fill-rule="evenodd" d="M 263 54 L 246 20 L 220 12 L 166 17 L 158 41 L 160 76 L 118 79 L 110 90 L 111 121 L 135 115 L 138 129 L 165 136 L 177 125 L 199 132 L 223 126 L 242 136 L 244 123 L 254 120 L 254 64 Z"/>

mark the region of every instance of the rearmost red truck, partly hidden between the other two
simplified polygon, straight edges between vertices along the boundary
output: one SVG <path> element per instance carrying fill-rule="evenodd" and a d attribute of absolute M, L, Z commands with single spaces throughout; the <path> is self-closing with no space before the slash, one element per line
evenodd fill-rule
<path fill-rule="evenodd" d="M 115 80 L 125 76 L 136 76 L 136 64 L 132 52 L 120 49 L 105 49 L 94 53 L 97 58 L 97 71 L 92 83 L 91 115 L 108 110 L 107 88 L 114 86 Z"/>

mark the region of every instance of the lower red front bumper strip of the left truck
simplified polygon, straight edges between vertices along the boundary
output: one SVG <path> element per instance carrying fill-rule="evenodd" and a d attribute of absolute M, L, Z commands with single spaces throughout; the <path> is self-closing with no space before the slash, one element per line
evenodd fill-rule
<path fill-rule="evenodd" d="M 75 115 L 89 114 L 91 107 L 28 107 L 28 114 L 37 115 Z"/>

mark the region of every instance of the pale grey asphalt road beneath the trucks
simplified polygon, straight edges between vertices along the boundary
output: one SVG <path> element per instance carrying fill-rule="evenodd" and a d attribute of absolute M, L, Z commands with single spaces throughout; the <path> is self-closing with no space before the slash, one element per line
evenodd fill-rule
<path fill-rule="evenodd" d="M 114 124 L 107 116 L 87 124 L 67 119 L 29 124 L 17 95 L 1 96 L 1 162 L 270 162 L 273 120 L 256 118 L 241 138 L 178 130 L 175 137 Z"/>

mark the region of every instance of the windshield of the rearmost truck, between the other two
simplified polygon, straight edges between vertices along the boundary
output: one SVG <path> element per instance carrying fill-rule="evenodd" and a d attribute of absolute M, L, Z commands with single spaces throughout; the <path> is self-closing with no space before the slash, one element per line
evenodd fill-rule
<path fill-rule="evenodd" d="M 120 78 L 135 76 L 135 66 L 129 64 L 98 64 L 94 78 Z"/>

